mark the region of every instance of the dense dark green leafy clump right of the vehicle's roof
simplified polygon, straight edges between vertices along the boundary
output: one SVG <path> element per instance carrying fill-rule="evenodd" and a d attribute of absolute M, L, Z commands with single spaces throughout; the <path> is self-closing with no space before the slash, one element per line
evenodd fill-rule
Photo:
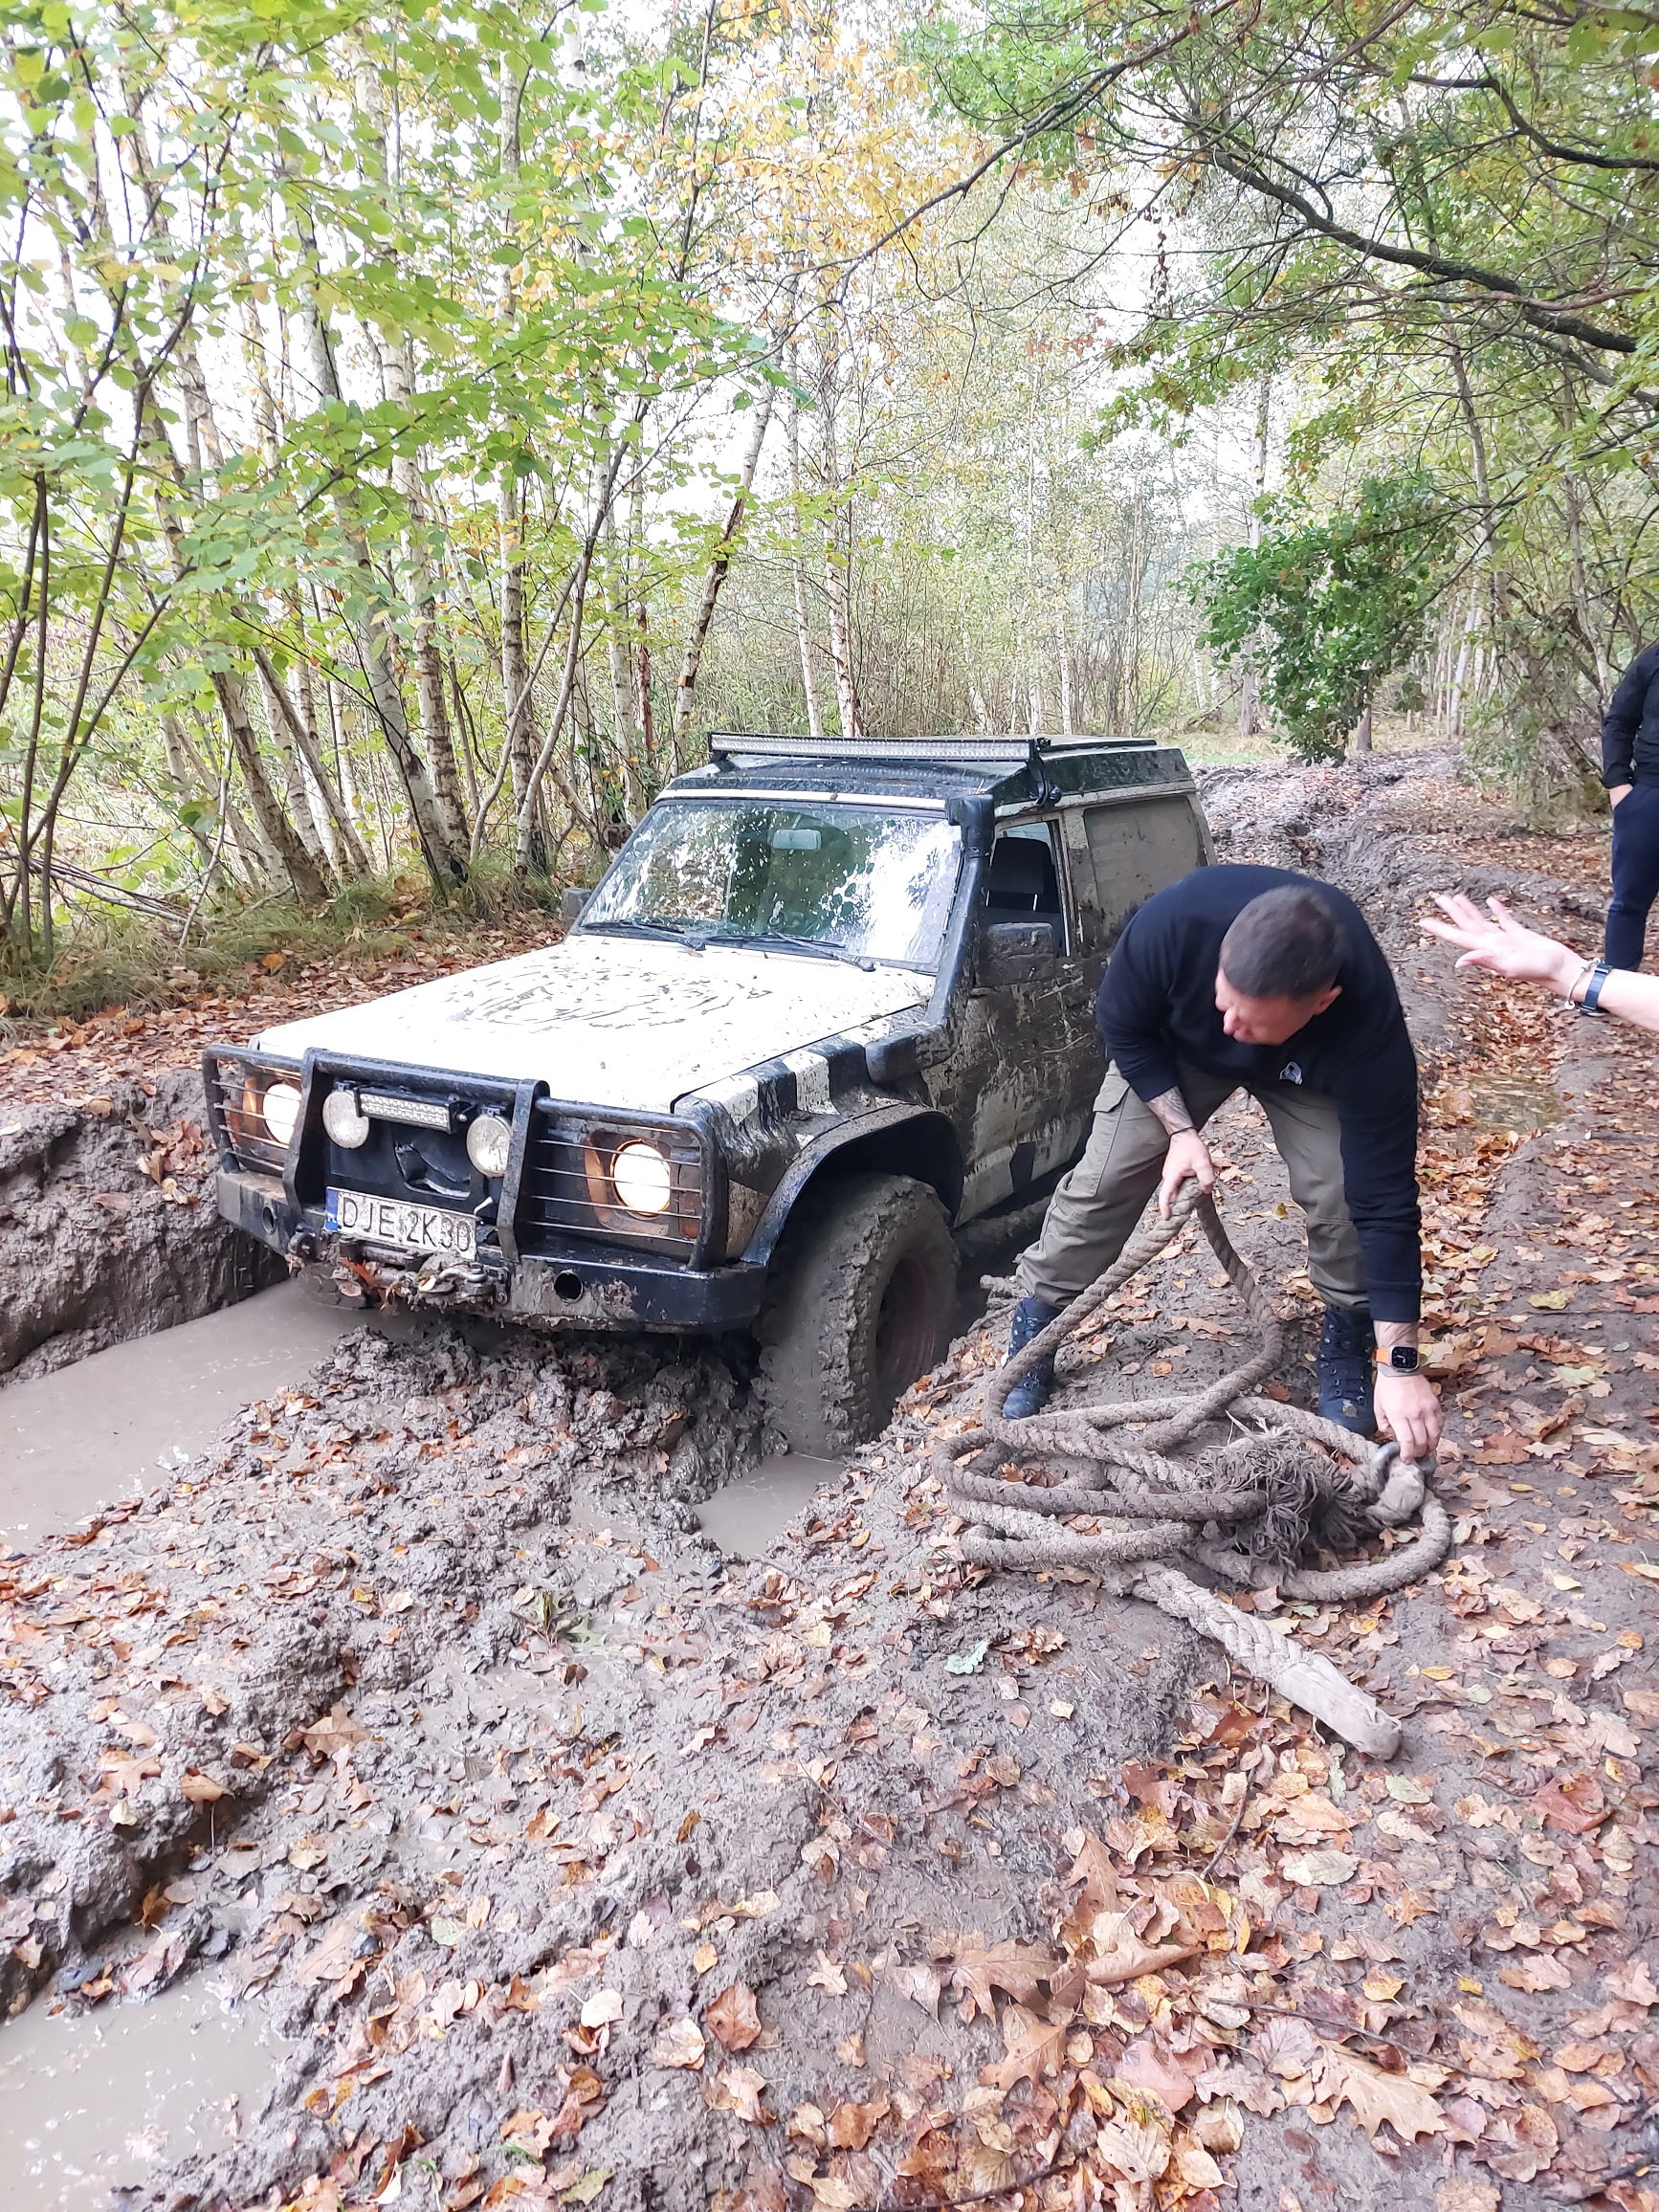
<path fill-rule="evenodd" d="M 1367 478 L 1349 513 L 1279 518 L 1261 544 L 1192 571 L 1206 644 L 1261 675 L 1301 759 L 1340 761 L 1383 677 L 1422 650 L 1453 524 L 1431 478 Z"/>

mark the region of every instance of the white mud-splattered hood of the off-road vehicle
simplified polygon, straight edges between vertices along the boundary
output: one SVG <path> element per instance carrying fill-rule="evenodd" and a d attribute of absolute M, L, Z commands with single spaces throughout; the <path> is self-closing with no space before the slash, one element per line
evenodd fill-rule
<path fill-rule="evenodd" d="M 458 1075 L 540 1077 L 571 1104 L 666 1113 L 688 1091 L 821 1037 L 876 1035 L 880 1018 L 911 1013 L 931 987 L 914 969 L 577 933 L 365 1006 L 283 1022 L 257 1044 L 292 1057 L 321 1046 Z"/>

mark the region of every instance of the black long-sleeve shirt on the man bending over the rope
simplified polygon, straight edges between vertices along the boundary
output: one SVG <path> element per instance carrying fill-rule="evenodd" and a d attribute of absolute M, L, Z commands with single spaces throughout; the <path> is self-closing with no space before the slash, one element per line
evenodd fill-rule
<path fill-rule="evenodd" d="M 1221 938 L 1252 898 L 1287 883 L 1318 891 L 1336 909 L 1340 995 L 1285 1044 L 1239 1044 L 1214 1002 Z M 1099 987 L 1099 1033 L 1141 1099 L 1175 1091 L 1181 1060 L 1241 1084 L 1303 1084 L 1332 1097 L 1371 1314 L 1418 1318 L 1418 1062 L 1394 973 L 1352 898 L 1285 867 L 1201 867 L 1183 876 L 1126 922 Z"/>

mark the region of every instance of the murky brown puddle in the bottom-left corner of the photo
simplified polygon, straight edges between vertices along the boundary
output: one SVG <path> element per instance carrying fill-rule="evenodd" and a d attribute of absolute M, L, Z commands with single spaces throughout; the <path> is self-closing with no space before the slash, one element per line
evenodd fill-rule
<path fill-rule="evenodd" d="M 104 2212 L 108 2192 L 230 2141 L 283 2057 L 257 2004 L 217 1978 L 71 2015 L 35 2002 L 0 2028 L 0 2203 Z"/>

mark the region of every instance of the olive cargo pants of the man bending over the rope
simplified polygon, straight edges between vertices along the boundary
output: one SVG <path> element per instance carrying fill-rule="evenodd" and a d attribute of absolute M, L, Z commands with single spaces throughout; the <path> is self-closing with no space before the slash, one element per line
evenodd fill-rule
<path fill-rule="evenodd" d="M 1239 1084 L 1181 1064 L 1181 1097 L 1199 1128 Z M 1263 1106 L 1290 1170 L 1290 1194 L 1307 1214 L 1307 1272 L 1327 1305 L 1365 1305 L 1360 1241 L 1343 1197 L 1343 1148 L 1336 1106 L 1296 1084 L 1245 1084 Z M 1117 1068 L 1095 1099 L 1095 1126 L 1084 1157 L 1060 1183 L 1037 1243 L 1022 1256 L 1022 1294 L 1068 1305 L 1104 1274 L 1130 1239 L 1164 1172 L 1170 1137 L 1152 1108 L 1135 1097 Z"/>

